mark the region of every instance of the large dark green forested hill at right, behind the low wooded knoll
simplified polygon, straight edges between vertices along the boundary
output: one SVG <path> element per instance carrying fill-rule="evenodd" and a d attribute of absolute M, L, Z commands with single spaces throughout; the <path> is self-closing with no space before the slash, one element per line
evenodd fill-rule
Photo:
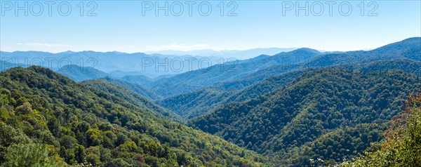
<path fill-rule="evenodd" d="M 382 123 L 399 114 L 406 95 L 420 91 L 420 77 L 399 70 L 352 72 L 335 68 L 315 69 L 298 76 L 288 86 L 246 102 L 224 105 L 210 114 L 192 119 L 189 125 L 248 149 L 276 154 L 282 164 L 289 164 L 293 156 L 285 156 L 286 152 L 295 154 L 295 148 L 305 149 L 305 145 L 312 145 L 312 142 L 316 145 L 317 141 L 323 143 L 326 138 L 323 135 L 333 136 L 326 138 L 329 143 L 342 142 L 341 138 L 328 134 L 332 131 L 338 134 L 360 129 L 380 131 Z M 376 124 L 361 128 L 361 123 Z M 361 134 L 370 133 L 371 137 L 349 137 L 365 144 L 359 146 L 356 142 L 345 140 L 354 149 L 349 149 L 347 155 L 356 155 L 368 147 L 368 143 L 379 140 L 376 137 L 379 135 L 373 131 L 361 131 Z M 321 151 L 314 149 L 312 152 L 327 160 L 342 159 L 345 155 L 336 150 L 344 146 L 328 146 L 323 145 L 319 148 Z M 300 166 L 308 163 L 299 161 L 291 164 Z"/>

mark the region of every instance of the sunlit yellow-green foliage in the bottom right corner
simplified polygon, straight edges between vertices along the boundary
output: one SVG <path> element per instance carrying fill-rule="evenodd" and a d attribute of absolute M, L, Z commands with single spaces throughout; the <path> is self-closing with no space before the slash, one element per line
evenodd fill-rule
<path fill-rule="evenodd" d="M 394 119 L 385 139 L 363 156 L 339 166 L 421 166 L 421 94 L 410 95 L 406 110 Z"/>

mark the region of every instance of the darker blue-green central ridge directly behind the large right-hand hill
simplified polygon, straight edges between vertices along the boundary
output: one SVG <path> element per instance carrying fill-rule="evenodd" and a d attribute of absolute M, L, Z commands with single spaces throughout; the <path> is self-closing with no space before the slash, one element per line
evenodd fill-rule
<path fill-rule="evenodd" d="M 217 88 L 210 87 L 203 88 L 199 91 L 174 95 L 163 100 L 158 100 L 157 103 L 185 119 L 192 119 L 229 102 L 242 102 L 269 93 L 279 86 L 285 86 L 290 83 L 298 74 L 302 74 L 302 72 L 299 70 L 275 75 L 252 86 L 248 86 L 241 91 L 221 91 Z"/>

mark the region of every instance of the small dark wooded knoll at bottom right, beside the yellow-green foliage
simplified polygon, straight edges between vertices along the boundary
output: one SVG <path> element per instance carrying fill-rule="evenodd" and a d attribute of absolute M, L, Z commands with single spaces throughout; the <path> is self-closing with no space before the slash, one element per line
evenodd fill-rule
<path fill-rule="evenodd" d="M 288 166 L 310 166 L 313 159 L 319 165 L 335 164 L 342 159 L 352 159 L 370 147 L 371 142 L 382 139 L 385 123 L 361 123 L 355 127 L 345 126 L 321 135 L 305 145 L 276 153 L 278 163 Z M 283 158 L 288 157 L 288 159 Z"/>

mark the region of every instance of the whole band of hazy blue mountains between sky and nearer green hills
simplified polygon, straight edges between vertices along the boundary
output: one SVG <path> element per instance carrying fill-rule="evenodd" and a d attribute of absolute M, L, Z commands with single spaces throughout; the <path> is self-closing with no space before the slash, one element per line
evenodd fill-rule
<path fill-rule="evenodd" d="M 349 63 L 366 63 L 375 62 L 377 60 L 396 60 L 402 58 L 421 60 L 419 56 L 416 56 L 421 55 L 420 41 L 419 37 L 415 37 L 382 46 L 371 51 L 349 51 L 343 53 L 321 53 L 311 48 L 299 48 L 294 51 L 265 55 L 262 54 L 262 52 L 279 51 L 279 48 L 267 50 L 254 49 L 249 50 L 250 52 L 258 52 L 258 54 L 254 55 L 254 58 L 225 62 L 223 64 L 213 65 L 198 70 L 192 68 L 191 70 L 182 72 L 171 72 L 171 70 L 163 72 L 162 70 L 171 68 L 168 66 L 163 67 L 158 65 L 155 67 L 154 65 L 151 65 L 149 67 L 148 65 L 148 67 L 145 67 L 145 62 L 142 66 L 142 60 L 166 62 L 166 58 L 174 58 L 174 60 L 183 60 L 183 58 L 206 58 L 206 60 L 218 62 L 218 58 L 189 57 L 185 55 L 147 55 L 145 53 L 97 53 L 93 51 L 67 51 L 55 54 L 20 51 L 13 53 L 1 52 L 1 58 L 3 60 L 1 61 L 1 69 L 4 70 L 8 67 L 15 66 L 25 67 L 25 65 L 28 64 L 41 65 L 44 67 L 51 66 L 51 69 L 60 72 L 61 74 L 65 74 L 75 81 L 99 79 L 109 76 L 113 79 L 121 79 L 123 81 L 136 83 L 147 88 L 149 91 L 156 92 L 159 96 L 170 97 L 172 95 L 180 95 L 182 93 L 188 93 L 207 87 L 214 87 L 224 91 L 240 90 L 257 81 L 262 81 L 269 76 L 273 76 L 274 74 L 282 74 L 291 70 L 305 69 L 307 67 L 348 65 Z M 201 53 L 212 53 L 212 51 L 203 51 Z M 227 51 L 227 53 L 229 53 L 229 51 Z M 27 60 L 25 60 L 25 58 L 27 58 Z M 16 61 L 13 60 L 18 60 L 17 62 L 27 62 L 27 64 L 14 63 Z M 57 68 L 54 66 L 54 63 L 49 64 L 46 60 L 61 62 L 63 65 L 60 66 L 60 68 Z M 67 61 L 72 62 L 72 65 L 67 65 Z M 82 62 L 84 62 L 84 64 L 82 64 Z M 188 61 L 182 62 L 189 63 Z M 73 63 L 78 63 L 79 65 L 73 65 Z M 156 70 L 156 68 L 159 70 Z M 70 69 L 70 71 L 59 69 Z M 139 72 L 142 71 L 142 69 L 145 69 L 145 72 Z M 187 68 L 184 67 L 183 69 Z"/>

